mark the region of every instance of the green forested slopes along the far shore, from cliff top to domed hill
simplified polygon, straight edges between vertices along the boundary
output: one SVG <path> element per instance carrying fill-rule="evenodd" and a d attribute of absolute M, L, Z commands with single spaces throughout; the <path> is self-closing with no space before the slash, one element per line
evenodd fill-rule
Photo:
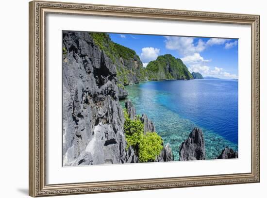
<path fill-rule="evenodd" d="M 117 83 L 127 85 L 130 82 L 146 80 L 189 80 L 194 77 L 181 59 L 170 54 L 158 56 L 147 68 L 142 66 L 134 50 L 114 43 L 107 33 L 90 33 L 95 44 L 104 51 L 117 67 Z M 63 51 L 64 52 L 64 51 Z"/>

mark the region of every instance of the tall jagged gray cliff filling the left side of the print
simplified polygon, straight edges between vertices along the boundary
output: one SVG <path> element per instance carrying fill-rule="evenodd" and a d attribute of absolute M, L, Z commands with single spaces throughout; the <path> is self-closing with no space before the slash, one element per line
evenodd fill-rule
<path fill-rule="evenodd" d="M 116 66 L 85 32 L 63 32 L 63 165 L 126 162 Z"/>

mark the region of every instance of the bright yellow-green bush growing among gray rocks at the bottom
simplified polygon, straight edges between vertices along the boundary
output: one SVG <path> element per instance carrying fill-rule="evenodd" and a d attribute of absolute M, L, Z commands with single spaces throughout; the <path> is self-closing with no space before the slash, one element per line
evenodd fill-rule
<path fill-rule="evenodd" d="M 139 117 L 131 120 L 125 109 L 124 118 L 126 149 L 132 146 L 137 152 L 140 162 L 153 162 L 163 149 L 162 138 L 156 132 L 144 134 L 144 125 Z"/>

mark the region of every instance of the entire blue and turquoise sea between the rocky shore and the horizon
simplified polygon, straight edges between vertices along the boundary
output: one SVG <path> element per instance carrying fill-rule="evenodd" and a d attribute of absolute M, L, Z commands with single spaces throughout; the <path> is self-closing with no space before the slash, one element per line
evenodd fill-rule
<path fill-rule="evenodd" d="M 175 160 L 194 127 L 204 133 L 206 159 L 226 146 L 238 150 L 238 81 L 153 81 L 125 88 L 136 113 L 147 114 L 164 144 L 170 143 Z"/>

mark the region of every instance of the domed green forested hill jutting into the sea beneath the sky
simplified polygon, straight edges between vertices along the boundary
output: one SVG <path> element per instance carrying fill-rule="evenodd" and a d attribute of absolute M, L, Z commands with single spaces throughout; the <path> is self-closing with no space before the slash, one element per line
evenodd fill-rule
<path fill-rule="evenodd" d="M 190 80 L 192 74 L 188 71 L 181 59 L 170 54 L 158 56 L 147 66 L 149 80 Z"/>

